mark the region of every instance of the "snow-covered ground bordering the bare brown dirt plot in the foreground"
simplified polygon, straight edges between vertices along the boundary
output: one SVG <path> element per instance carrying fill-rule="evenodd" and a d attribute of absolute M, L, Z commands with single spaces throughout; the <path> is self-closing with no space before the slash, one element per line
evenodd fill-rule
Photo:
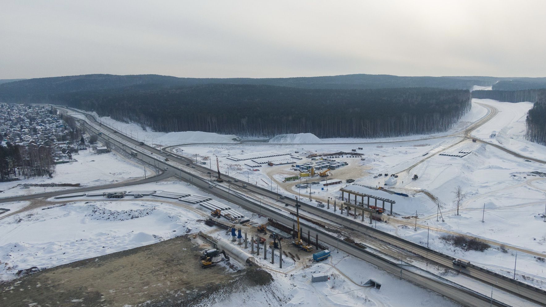
<path fill-rule="evenodd" d="M 143 184 L 132 189 L 207 195 L 207 191 L 177 180 Z M 203 231 L 213 237 L 225 238 L 224 231 L 197 222 L 209 216 L 210 212 L 199 205 L 189 205 L 175 199 L 145 196 L 120 200 L 91 197 L 66 199 L 64 202 L 54 200 L 49 199 L 51 204 L 42 207 L 49 209 L 31 209 L 0 219 L 0 232 L 3 233 L 0 238 L 0 280 L 15 278 L 14 273 L 19 269 L 54 267 L 157 243 L 186 233 Z M 228 204 L 221 199 L 215 200 Z M 21 208 L 26 204 L 7 205 Z M 234 204 L 230 205 L 251 215 Z M 265 221 L 263 218 L 255 220 Z M 318 264 L 306 261 L 296 264 L 290 258 L 284 258 L 283 269 L 261 257 L 256 261 L 273 275 L 274 281 L 268 288 L 272 287 L 276 292 L 253 288 L 252 296 L 245 296 L 244 293 L 230 295 L 215 305 L 257 306 L 279 300 L 285 306 L 456 305 L 434 292 L 400 280 L 395 275 L 385 274 L 385 271 L 343 252 L 333 251 L 328 261 Z M 330 280 L 311 283 L 311 275 L 317 273 L 328 274 Z M 383 286 L 380 290 L 362 286 L 369 279 L 381 282 Z M 263 291 L 264 296 L 256 296 L 256 291 Z M 393 296 L 393 292 L 401 295 Z M 277 295 L 280 293 L 283 296 Z"/>

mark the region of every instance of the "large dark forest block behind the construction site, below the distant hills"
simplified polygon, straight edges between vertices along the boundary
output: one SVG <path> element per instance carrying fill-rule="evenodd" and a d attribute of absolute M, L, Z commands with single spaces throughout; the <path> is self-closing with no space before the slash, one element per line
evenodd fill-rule
<path fill-rule="evenodd" d="M 156 131 L 271 137 L 378 138 L 446 131 L 470 109 L 470 92 L 438 88 L 311 90 L 265 85 L 130 87 L 64 93 L 56 102 Z"/>

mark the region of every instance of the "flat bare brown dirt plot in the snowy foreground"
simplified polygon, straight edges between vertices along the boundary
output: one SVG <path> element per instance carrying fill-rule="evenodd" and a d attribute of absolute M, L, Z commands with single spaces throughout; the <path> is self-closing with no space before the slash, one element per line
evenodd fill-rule
<path fill-rule="evenodd" d="M 202 269 L 198 260 L 206 248 L 186 235 L 46 269 L 1 284 L 0 305 L 193 306 L 272 280 L 253 267 Z"/>

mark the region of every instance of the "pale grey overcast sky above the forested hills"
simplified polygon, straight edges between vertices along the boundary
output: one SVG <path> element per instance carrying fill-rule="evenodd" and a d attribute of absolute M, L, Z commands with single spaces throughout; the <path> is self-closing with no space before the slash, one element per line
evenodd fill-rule
<path fill-rule="evenodd" d="M 546 76 L 546 1 L 0 0 L 0 79 Z"/>

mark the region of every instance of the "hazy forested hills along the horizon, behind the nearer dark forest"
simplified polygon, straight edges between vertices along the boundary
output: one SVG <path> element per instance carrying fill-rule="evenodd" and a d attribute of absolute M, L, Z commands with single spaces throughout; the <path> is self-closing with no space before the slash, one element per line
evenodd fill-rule
<path fill-rule="evenodd" d="M 369 89 L 400 87 L 436 87 L 470 90 L 473 85 L 491 86 L 500 80 L 544 82 L 546 78 L 496 78 L 489 76 L 394 76 L 337 75 L 298 78 L 176 78 L 162 75 L 78 75 L 36 78 L 0 84 L 0 102 L 51 102 L 52 96 L 79 91 L 103 91 L 146 85 L 149 88 L 196 86 L 205 84 L 275 85 L 314 89 Z"/>

